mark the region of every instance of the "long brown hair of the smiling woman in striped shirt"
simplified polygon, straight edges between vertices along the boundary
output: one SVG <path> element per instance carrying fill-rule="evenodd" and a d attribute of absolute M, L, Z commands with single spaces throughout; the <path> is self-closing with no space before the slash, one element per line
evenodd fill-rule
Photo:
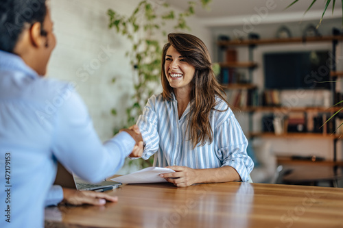
<path fill-rule="evenodd" d="M 193 149 L 200 143 L 204 146 L 206 142 L 213 142 L 213 129 L 209 122 L 211 110 L 217 105 L 216 97 L 228 102 L 224 97 L 226 94 L 215 79 L 212 70 L 211 57 L 204 42 L 191 34 L 169 34 L 168 42 L 163 47 L 161 81 L 163 86 L 163 99 L 171 99 L 173 88 L 165 76 L 165 55 L 167 49 L 173 46 L 184 58 L 194 66 L 196 71 L 191 81 L 191 111 L 190 111 L 190 138 L 193 142 Z M 228 105 L 229 106 L 229 105 Z M 188 127 L 187 127 L 188 128 Z"/>

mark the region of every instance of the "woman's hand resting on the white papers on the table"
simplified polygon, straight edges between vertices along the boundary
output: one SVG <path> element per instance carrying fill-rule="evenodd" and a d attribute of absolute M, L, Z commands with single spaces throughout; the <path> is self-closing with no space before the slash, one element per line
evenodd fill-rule
<path fill-rule="evenodd" d="M 177 187 L 187 187 L 197 183 L 198 173 L 196 169 L 186 166 L 167 166 L 165 168 L 171 168 L 175 173 L 163 173 L 160 176 L 168 182 L 174 183 Z"/>

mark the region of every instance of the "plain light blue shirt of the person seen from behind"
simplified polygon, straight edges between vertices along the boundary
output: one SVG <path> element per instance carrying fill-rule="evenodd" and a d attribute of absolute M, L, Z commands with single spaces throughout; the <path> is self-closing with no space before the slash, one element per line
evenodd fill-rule
<path fill-rule="evenodd" d="M 97 182 L 121 168 L 134 144 L 126 132 L 103 144 L 71 84 L 0 51 L 0 227 L 43 227 L 56 160 Z M 48 204 L 58 199 L 49 196 Z"/>

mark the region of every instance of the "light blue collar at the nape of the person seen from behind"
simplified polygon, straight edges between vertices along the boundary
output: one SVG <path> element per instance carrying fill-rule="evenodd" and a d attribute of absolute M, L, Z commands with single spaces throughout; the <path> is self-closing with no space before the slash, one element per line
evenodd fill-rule
<path fill-rule="evenodd" d="M 22 71 L 25 75 L 34 78 L 39 77 L 39 75 L 32 68 L 25 64 L 24 60 L 13 53 L 0 50 L 0 69 L 10 70 L 10 71 Z"/>

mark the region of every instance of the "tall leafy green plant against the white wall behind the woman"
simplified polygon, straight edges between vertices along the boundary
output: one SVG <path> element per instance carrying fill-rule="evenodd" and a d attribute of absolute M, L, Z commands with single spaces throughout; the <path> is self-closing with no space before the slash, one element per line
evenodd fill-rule
<path fill-rule="evenodd" d="M 167 36 L 166 29 L 180 31 L 190 28 L 186 23 L 186 18 L 194 14 L 194 7 L 201 3 L 205 8 L 212 0 L 189 1 L 187 10 L 176 14 L 174 10 L 169 10 L 169 5 L 164 1 L 141 1 L 131 16 L 123 16 L 114 10 L 109 9 L 109 28 L 116 29 L 118 34 L 130 40 L 132 47 L 126 52 L 130 58 L 130 64 L 134 68 L 134 94 L 133 104 L 127 107 L 126 125 L 114 129 L 117 134 L 119 129 L 134 125 L 137 117 L 142 112 L 147 99 L 154 94 L 158 88 L 161 75 L 161 39 Z M 115 83 L 115 78 L 113 78 Z M 113 115 L 117 115 L 117 110 L 111 110 Z M 128 163 L 140 162 L 140 166 L 145 168 L 151 166 L 153 157 L 150 160 L 130 160 Z"/>

